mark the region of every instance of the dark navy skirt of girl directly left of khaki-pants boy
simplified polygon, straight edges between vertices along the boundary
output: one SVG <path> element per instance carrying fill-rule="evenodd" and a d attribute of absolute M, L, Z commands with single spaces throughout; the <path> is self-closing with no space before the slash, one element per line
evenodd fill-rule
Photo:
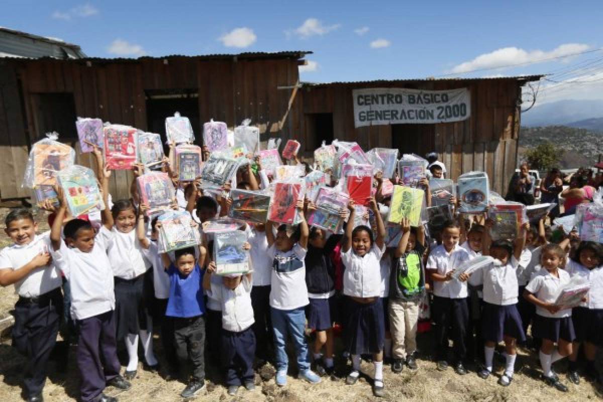
<path fill-rule="evenodd" d="M 383 303 L 358 303 L 348 298 L 346 318 L 346 350 L 351 354 L 379 353 L 385 344 Z"/>

